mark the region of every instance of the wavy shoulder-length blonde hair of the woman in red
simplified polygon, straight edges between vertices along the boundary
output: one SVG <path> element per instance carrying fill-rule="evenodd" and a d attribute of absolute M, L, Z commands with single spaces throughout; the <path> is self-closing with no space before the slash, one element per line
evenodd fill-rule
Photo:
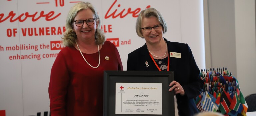
<path fill-rule="evenodd" d="M 75 44 L 76 33 L 73 31 L 74 18 L 76 17 L 77 12 L 79 12 L 81 10 L 85 10 L 85 9 L 91 9 L 96 22 L 98 21 L 98 26 L 97 26 L 97 29 L 95 32 L 96 44 L 102 45 L 106 41 L 105 35 L 101 30 L 101 20 L 99 18 L 99 15 L 98 15 L 96 9 L 89 2 L 79 2 L 79 3 L 75 4 L 68 12 L 68 16 L 66 19 L 66 31 L 64 32 L 63 37 L 62 37 L 62 43 L 64 46 L 73 46 Z"/>

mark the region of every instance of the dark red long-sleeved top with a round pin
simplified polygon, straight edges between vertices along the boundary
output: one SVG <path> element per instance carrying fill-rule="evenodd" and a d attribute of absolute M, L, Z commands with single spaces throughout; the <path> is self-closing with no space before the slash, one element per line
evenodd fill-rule
<path fill-rule="evenodd" d="M 98 65 L 98 52 L 83 55 L 92 66 Z M 102 46 L 100 66 L 96 69 L 85 62 L 75 47 L 63 48 L 51 70 L 51 116 L 102 116 L 104 70 L 123 70 L 118 50 L 111 42 Z"/>

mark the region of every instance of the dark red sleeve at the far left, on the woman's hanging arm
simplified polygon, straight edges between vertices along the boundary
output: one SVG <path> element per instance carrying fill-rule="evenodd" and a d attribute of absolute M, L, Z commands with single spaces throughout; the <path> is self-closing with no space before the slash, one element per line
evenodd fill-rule
<path fill-rule="evenodd" d="M 66 116 L 66 94 L 69 83 L 69 73 L 65 56 L 58 54 L 51 69 L 49 83 L 49 98 L 51 116 Z"/>

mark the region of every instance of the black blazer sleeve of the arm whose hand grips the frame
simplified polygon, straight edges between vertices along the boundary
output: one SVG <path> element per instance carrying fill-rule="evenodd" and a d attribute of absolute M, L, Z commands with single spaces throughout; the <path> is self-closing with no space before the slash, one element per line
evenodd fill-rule
<path fill-rule="evenodd" d="M 194 59 L 194 56 L 192 54 L 192 51 L 190 47 L 187 45 L 187 54 L 188 54 L 188 60 L 189 60 L 189 68 L 190 68 L 190 74 L 189 74 L 189 84 L 182 86 L 185 90 L 185 94 L 188 97 L 188 99 L 195 98 L 198 96 L 202 89 L 203 89 L 203 80 L 200 78 L 200 70 L 198 66 L 196 65 L 196 61 Z"/>

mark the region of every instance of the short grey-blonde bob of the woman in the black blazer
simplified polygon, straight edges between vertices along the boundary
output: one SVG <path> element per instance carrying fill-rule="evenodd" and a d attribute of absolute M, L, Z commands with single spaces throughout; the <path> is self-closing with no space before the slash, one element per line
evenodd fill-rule
<path fill-rule="evenodd" d="M 136 33 L 139 37 L 143 38 L 142 32 L 141 32 L 141 23 L 143 18 L 150 18 L 150 17 L 156 17 L 156 19 L 163 24 L 163 33 L 167 32 L 167 26 L 164 21 L 164 18 L 162 17 L 161 13 L 158 12 L 154 8 L 147 8 L 145 10 L 142 10 L 137 18 L 136 21 Z"/>

